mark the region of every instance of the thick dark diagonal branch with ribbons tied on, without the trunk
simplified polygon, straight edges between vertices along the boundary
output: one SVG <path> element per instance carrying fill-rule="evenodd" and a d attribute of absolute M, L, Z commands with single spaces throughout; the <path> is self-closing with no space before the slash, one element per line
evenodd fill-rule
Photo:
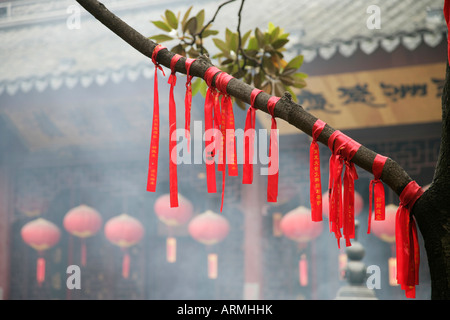
<path fill-rule="evenodd" d="M 146 38 L 135 29 L 130 27 L 112 12 L 110 12 L 102 3 L 97 0 L 76 0 L 83 8 L 91 13 L 98 21 L 108 27 L 112 32 L 121 37 L 133 48 L 143 55 L 151 58 L 153 49 L 157 43 Z M 161 50 L 157 56 L 157 61 L 161 65 L 170 68 L 170 61 L 174 53 L 167 49 Z M 186 74 L 185 58 L 181 58 L 175 66 L 176 72 Z M 191 66 L 190 75 L 204 79 L 206 70 L 212 66 L 208 58 L 201 56 Z M 213 81 L 214 84 L 214 81 Z M 236 78 L 231 79 L 227 86 L 227 93 L 247 104 L 250 104 L 250 94 L 254 87 L 240 81 Z M 270 95 L 262 92 L 255 101 L 255 108 L 268 113 L 267 101 Z M 286 93 L 275 108 L 275 116 L 287 121 L 299 130 L 308 135 L 312 135 L 312 127 L 317 118 L 306 112 L 301 105 L 294 103 L 291 96 Z M 319 136 L 319 141 L 327 145 L 330 135 L 335 131 L 327 125 Z M 372 164 L 376 153 L 368 148 L 361 146 L 358 152 L 352 158 L 360 168 L 372 172 Z M 400 195 L 404 187 L 412 180 L 404 169 L 394 160 L 388 158 L 381 175 L 381 180 L 388 185 L 397 195 Z"/>

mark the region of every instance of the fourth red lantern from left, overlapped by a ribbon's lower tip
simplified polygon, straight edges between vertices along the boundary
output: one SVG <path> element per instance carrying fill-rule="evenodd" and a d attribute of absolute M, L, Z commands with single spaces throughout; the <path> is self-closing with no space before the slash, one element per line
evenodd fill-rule
<path fill-rule="evenodd" d="M 192 203 L 178 194 L 178 207 L 171 207 L 170 194 L 164 194 L 156 200 L 154 210 L 158 219 L 169 228 L 169 236 L 166 240 L 166 259 L 168 262 L 175 262 L 177 259 L 177 240 L 171 235 L 172 228 L 189 221 L 194 212 Z"/>

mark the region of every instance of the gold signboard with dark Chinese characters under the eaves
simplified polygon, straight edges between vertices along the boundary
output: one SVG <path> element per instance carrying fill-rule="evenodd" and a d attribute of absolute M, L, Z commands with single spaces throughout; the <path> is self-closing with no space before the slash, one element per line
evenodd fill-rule
<path fill-rule="evenodd" d="M 339 130 L 436 122 L 444 79 L 445 63 L 315 76 L 297 97 L 305 110 Z M 270 128 L 270 116 L 257 114 Z M 277 121 L 280 134 L 300 133 Z"/>

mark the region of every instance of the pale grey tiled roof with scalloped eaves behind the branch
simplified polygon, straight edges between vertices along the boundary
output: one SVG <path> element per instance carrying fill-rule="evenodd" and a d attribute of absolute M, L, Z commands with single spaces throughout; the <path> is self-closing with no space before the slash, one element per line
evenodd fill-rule
<path fill-rule="evenodd" d="M 194 12 L 204 8 L 206 20 L 224 0 L 107 0 L 111 11 L 144 35 L 159 31 L 150 23 L 166 8 Z M 215 29 L 235 29 L 240 1 L 223 7 Z M 291 34 L 292 54 L 303 53 L 310 62 L 337 52 L 350 56 L 356 48 L 370 54 L 379 46 L 388 52 L 403 45 L 414 50 L 422 42 L 436 46 L 445 40 L 443 0 L 373 0 L 380 8 L 381 28 L 366 25 L 369 2 L 350 0 L 247 0 L 242 30 L 267 28 L 269 22 Z M 80 29 L 66 22 L 74 0 L 0 1 L 0 95 L 43 91 L 63 85 L 89 86 L 93 82 L 119 82 L 151 77 L 153 66 L 122 39 L 87 14 Z"/>

